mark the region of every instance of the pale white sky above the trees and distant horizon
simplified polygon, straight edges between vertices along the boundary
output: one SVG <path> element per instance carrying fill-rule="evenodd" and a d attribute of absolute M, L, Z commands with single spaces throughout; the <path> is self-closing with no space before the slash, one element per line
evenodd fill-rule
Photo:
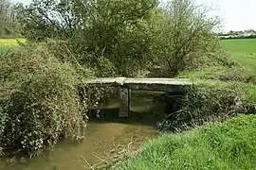
<path fill-rule="evenodd" d="M 12 0 L 29 4 L 31 0 Z M 167 0 L 163 0 L 167 1 Z M 219 16 L 223 20 L 223 31 L 246 29 L 256 30 L 256 0 L 195 0 L 196 3 L 213 7 L 210 15 Z"/>

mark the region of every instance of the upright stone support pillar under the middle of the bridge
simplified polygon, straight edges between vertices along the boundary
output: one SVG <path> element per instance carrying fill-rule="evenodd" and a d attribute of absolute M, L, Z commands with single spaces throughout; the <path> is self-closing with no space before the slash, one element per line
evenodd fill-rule
<path fill-rule="evenodd" d="M 119 117 L 128 117 L 130 111 L 130 89 L 120 88 Z"/>

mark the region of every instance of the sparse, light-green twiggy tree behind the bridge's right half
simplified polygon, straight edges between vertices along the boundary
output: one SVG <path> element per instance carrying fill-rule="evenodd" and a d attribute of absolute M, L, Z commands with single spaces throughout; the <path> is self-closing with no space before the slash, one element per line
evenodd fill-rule
<path fill-rule="evenodd" d="M 155 52 L 167 76 L 201 67 L 221 55 L 213 34 L 219 19 L 207 18 L 209 11 L 210 8 L 198 7 L 191 0 L 171 0 L 163 9 Z"/>

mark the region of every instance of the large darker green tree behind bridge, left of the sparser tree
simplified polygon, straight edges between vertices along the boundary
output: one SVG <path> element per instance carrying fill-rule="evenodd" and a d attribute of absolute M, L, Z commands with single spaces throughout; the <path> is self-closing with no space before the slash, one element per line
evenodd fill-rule
<path fill-rule="evenodd" d="M 147 63 L 156 7 L 156 0 L 34 0 L 19 19 L 30 41 L 64 40 L 80 63 L 110 62 L 119 76 L 135 76 Z"/>

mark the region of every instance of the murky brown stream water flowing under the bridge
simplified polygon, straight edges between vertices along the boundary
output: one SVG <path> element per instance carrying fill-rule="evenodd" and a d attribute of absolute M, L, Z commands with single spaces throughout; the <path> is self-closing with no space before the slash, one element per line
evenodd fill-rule
<path fill-rule="evenodd" d="M 101 121 L 91 120 L 85 130 L 85 140 L 81 144 L 60 142 L 52 152 L 27 162 L 0 162 L 0 169 L 6 170 L 84 170 L 88 163 L 94 165 L 101 159 L 111 157 L 111 150 L 118 145 L 138 147 L 155 138 L 157 118 L 150 111 L 155 100 L 150 97 L 133 97 L 132 113 L 129 118 L 118 118 L 118 104 L 112 102 L 103 110 Z M 157 110 L 160 111 L 160 110 Z M 86 161 L 88 161 L 88 163 Z"/>

